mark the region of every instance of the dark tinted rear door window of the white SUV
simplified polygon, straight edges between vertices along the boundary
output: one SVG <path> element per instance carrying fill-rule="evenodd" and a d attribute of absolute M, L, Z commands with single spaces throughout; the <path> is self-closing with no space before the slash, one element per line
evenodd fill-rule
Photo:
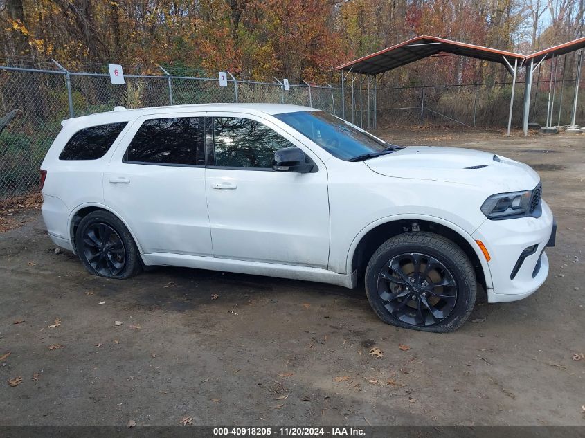
<path fill-rule="evenodd" d="M 128 146 L 125 161 L 204 165 L 203 117 L 146 120 Z"/>

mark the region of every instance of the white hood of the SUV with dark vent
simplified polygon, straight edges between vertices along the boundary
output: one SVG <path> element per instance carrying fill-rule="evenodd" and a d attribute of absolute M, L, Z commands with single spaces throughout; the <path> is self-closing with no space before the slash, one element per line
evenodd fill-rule
<path fill-rule="evenodd" d="M 459 147 L 409 146 L 363 163 L 385 176 L 489 187 L 494 193 L 532 190 L 540 181 L 528 165 Z"/>

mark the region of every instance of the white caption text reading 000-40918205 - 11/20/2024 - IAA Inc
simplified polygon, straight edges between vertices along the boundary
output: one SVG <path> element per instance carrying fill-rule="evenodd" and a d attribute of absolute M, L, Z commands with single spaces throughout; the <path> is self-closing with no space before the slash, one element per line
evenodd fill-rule
<path fill-rule="evenodd" d="M 329 427 L 329 428 L 213 428 L 214 436 L 269 436 L 285 437 L 331 436 L 331 437 L 363 437 L 366 432 L 361 428 Z"/>

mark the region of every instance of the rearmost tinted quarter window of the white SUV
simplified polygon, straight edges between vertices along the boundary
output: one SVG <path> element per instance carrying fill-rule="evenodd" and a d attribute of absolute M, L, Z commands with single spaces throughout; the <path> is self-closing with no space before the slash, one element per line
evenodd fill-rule
<path fill-rule="evenodd" d="M 97 160 L 102 158 L 126 125 L 127 122 L 111 123 L 75 132 L 63 148 L 59 159 Z"/>

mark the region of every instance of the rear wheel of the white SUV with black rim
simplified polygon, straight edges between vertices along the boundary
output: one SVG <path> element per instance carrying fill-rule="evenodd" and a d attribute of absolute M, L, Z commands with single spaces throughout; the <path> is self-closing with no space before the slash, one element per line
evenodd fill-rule
<path fill-rule="evenodd" d="M 105 210 L 91 212 L 80 221 L 75 248 L 92 275 L 123 280 L 142 271 L 132 235 L 120 219 Z"/>

